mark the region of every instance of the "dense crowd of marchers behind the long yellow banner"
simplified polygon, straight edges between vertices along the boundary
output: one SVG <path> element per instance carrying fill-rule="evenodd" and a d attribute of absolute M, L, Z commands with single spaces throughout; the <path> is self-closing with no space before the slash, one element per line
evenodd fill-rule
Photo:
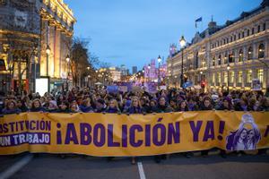
<path fill-rule="evenodd" d="M 262 91 L 145 89 L 109 93 L 106 87 L 73 88 L 39 93 L 13 91 L 3 95 L 0 114 L 22 112 L 151 114 L 200 110 L 269 111 L 269 95 Z M 206 155 L 206 152 L 205 152 Z M 189 156 L 189 153 L 187 153 Z M 157 158 L 159 161 L 160 158 Z"/>

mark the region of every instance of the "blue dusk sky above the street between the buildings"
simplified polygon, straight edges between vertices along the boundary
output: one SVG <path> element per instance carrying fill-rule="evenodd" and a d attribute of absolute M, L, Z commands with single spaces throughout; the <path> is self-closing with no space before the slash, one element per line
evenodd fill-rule
<path fill-rule="evenodd" d="M 181 35 L 195 35 L 213 20 L 222 25 L 256 8 L 262 0 L 65 0 L 77 20 L 74 36 L 90 40 L 90 51 L 113 66 L 142 69 L 158 55 L 169 55 L 169 44 Z"/>

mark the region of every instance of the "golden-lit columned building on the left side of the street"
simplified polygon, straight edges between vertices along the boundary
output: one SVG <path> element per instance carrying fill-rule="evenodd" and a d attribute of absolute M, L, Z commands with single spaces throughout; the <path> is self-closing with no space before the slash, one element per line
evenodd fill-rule
<path fill-rule="evenodd" d="M 66 81 L 75 19 L 63 0 L 2 0 L 0 21 L 0 90 L 34 91 L 40 76 L 51 89 Z"/>

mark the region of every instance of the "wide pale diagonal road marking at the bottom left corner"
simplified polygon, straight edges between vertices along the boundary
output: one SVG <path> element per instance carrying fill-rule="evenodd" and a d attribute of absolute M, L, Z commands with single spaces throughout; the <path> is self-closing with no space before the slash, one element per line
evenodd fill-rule
<path fill-rule="evenodd" d="M 16 172 L 22 169 L 23 166 L 26 166 L 30 160 L 33 158 L 33 155 L 27 155 L 22 158 L 20 161 L 16 162 L 13 166 L 7 168 L 3 173 L 0 174 L 0 179 L 7 179 L 14 175 Z"/>

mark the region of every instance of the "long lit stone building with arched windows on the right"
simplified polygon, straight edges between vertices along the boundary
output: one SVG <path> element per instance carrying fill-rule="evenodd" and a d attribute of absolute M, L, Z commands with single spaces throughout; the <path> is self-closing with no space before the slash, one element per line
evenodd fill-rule
<path fill-rule="evenodd" d="M 169 86 L 178 87 L 183 55 L 184 77 L 207 89 L 251 90 L 252 81 L 269 88 L 269 1 L 218 26 L 208 24 L 181 50 L 170 47 L 167 60 Z M 173 52 L 171 51 L 173 50 Z"/>

